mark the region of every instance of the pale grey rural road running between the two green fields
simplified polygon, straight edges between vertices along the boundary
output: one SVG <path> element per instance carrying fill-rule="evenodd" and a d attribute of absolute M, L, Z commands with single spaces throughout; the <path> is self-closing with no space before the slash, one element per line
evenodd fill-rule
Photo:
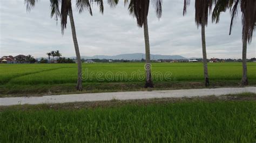
<path fill-rule="evenodd" d="M 105 92 L 95 94 L 71 94 L 71 95 L 50 95 L 39 97 L 4 97 L 0 98 L 0 106 L 19 104 L 48 104 L 48 103 L 69 103 L 88 101 L 110 101 L 112 99 L 150 99 L 150 98 L 171 98 L 171 97 L 196 97 L 209 95 L 239 94 L 242 92 L 253 92 L 256 94 L 256 87 L 245 88 L 215 88 L 215 89 L 181 89 L 181 90 L 154 90 L 154 91 L 131 91 L 131 92 Z"/>

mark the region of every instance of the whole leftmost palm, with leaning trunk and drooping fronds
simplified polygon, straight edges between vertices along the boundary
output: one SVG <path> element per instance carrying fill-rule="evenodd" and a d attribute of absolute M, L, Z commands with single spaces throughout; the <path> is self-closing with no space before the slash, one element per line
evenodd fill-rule
<path fill-rule="evenodd" d="M 31 8 L 35 6 L 35 3 L 37 0 L 24 0 L 26 4 L 27 11 L 30 11 Z M 92 15 L 91 10 L 91 4 L 96 3 L 99 8 L 100 12 L 103 13 L 104 7 L 103 7 L 103 0 L 76 0 L 76 7 L 79 11 L 79 13 L 82 13 L 85 10 L 88 10 L 90 12 L 90 15 Z M 61 9 L 59 10 L 59 5 L 61 4 Z M 66 24 L 68 23 L 68 16 L 70 19 L 70 25 L 71 25 L 71 31 L 72 31 L 72 37 L 73 37 L 73 43 L 76 51 L 76 57 L 77 57 L 77 65 L 78 65 L 78 78 L 77 78 L 77 86 L 76 89 L 79 91 L 83 90 L 82 87 L 82 63 L 80 58 L 80 52 L 79 52 L 79 46 L 77 41 L 77 35 L 76 35 L 76 28 L 75 28 L 75 20 L 73 18 L 73 11 L 72 11 L 72 2 L 71 0 L 50 0 L 50 6 L 51 6 L 51 17 L 55 16 L 56 20 L 60 18 L 60 25 L 62 28 L 62 34 L 64 34 L 64 30 L 66 28 Z"/>

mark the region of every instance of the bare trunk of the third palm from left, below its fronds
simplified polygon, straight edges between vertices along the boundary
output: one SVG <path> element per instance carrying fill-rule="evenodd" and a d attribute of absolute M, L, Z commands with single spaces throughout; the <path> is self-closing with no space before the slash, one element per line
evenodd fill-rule
<path fill-rule="evenodd" d="M 207 55 L 206 55 L 206 42 L 205 42 L 205 25 L 201 25 L 201 37 L 202 37 L 202 48 L 203 48 L 203 63 L 204 63 L 204 76 L 205 86 L 209 86 L 208 68 L 207 68 Z"/>

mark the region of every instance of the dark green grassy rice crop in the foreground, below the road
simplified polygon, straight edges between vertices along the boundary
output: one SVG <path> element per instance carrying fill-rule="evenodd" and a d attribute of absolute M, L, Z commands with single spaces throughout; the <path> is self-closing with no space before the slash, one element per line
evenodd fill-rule
<path fill-rule="evenodd" d="M 0 142 L 255 142 L 255 101 L 246 93 L 12 106 L 0 110 Z"/>

